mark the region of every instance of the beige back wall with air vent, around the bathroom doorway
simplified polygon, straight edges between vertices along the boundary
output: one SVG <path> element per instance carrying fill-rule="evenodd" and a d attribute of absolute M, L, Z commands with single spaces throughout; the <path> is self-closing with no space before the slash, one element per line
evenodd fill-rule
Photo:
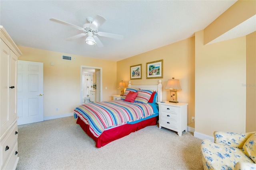
<path fill-rule="evenodd" d="M 44 63 L 44 117 L 73 113 L 74 108 L 80 105 L 81 65 L 102 68 L 102 100 L 111 100 L 111 96 L 116 94 L 115 61 L 21 46 L 18 48 L 23 54 L 19 60 Z M 72 61 L 62 60 L 62 55 L 72 56 Z M 54 62 L 54 66 L 50 66 L 50 62 Z"/>

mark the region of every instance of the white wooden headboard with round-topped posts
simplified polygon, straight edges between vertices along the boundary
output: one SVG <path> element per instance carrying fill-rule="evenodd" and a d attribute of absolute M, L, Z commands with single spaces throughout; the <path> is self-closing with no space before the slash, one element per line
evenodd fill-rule
<path fill-rule="evenodd" d="M 161 84 L 162 80 L 158 81 L 158 85 L 132 85 L 129 81 L 128 88 L 140 88 L 141 90 L 154 90 L 157 92 L 157 101 L 162 102 L 162 90 L 163 85 Z"/>

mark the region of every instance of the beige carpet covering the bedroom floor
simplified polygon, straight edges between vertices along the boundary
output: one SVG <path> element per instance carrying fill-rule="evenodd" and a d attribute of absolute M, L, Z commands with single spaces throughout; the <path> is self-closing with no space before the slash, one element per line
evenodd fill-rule
<path fill-rule="evenodd" d="M 70 116 L 18 126 L 17 170 L 203 170 L 201 142 L 156 125 L 98 149 Z"/>

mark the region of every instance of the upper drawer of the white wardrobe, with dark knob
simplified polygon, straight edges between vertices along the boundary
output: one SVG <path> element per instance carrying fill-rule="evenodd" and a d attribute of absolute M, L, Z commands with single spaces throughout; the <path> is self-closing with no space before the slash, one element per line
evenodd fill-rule
<path fill-rule="evenodd" d="M 17 133 L 16 133 L 17 132 Z M 4 138 L 1 142 L 1 152 L 2 152 L 2 160 L 1 160 L 1 167 L 3 166 L 3 162 L 6 162 L 7 158 L 11 154 L 15 143 L 18 140 L 18 125 L 17 122 L 13 125 L 10 133 Z"/>

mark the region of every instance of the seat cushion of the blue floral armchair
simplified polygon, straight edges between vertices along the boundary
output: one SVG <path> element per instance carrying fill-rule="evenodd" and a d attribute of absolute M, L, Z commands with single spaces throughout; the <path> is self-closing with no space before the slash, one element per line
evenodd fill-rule
<path fill-rule="evenodd" d="M 233 170 L 237 162 L 254 163 L 242 149 L 216 144 L 210 140 L 202 141 L 201 155 L 205 170 Z"/>

